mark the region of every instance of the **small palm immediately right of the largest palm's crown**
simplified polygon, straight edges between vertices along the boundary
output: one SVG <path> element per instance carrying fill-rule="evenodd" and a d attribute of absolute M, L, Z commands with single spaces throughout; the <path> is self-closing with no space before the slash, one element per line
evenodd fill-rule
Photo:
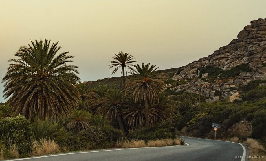
<path fill-rule="evenodd" d="M 89 104 L 91 104 L 91 100 L 95 96 L 95 93 L 91 90 L 89 85 L 84 82 L 77 84 L 76 87 L 81 100 L 82 109 L 85 110 L 85 106 L 89 106 Z"/>

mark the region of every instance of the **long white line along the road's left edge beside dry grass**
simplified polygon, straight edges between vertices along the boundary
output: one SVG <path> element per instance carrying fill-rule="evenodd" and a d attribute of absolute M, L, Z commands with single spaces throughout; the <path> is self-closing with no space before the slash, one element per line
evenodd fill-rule
<path fill-rule="evenodd" d="M 187 143 L 185 143 L 187 144 Z M 188 144 L 189 145 L 189 144 Z M 164 147 L 176 147 L 180 145 L 173 145 L 173 146 L 164 146 Z M 126 149 L 144 149 L 144 148 L 161 148 L 161 147 L 140 147 L 140 148 L 124 148 L 124 149 L 112 149 L 112 150 L 100 150 L 100 151 L 84 151 L 84 152 L 76 152 L 76 153 L 63 153 L 63 154 L 55 154 L 55 155 L 47 155 L 47 156 L 38 156 L 38 157 L 29 157 L 29 158 L 19 158 L 19 159 L 12 159 L 8 161 L 15 161 L 15 160 L 26 160 L 26 159 L 35 159 L 35 158 L 45 158 L 45 157 L 52 157 L 52 156 L 63 156 L 63 155 L 70 155 L 70 154 L 81 154 L 81 153 L 95 153 L 95 152 L 102 152 L 102 151 L 116 151 L 116 150 L 126 150 Z"/>

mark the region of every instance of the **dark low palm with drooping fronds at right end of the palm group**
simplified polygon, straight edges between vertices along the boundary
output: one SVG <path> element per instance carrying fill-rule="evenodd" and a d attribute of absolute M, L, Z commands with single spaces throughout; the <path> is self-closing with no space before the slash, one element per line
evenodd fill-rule
<path fill-rule="evenodd" d="M 170 100 L 169 96 L 165 92 L 158 93 L 158 101 L 151 105 L 155 115 L 153 116 L 153 122 L 159 123 L 163 120 L 173 120 L 175 116 L 174 102 Z"/>

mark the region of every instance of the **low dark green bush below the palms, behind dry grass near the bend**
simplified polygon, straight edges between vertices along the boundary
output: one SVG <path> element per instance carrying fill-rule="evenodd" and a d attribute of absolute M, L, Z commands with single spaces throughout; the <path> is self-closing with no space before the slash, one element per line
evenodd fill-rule
<path fill-rule="evenodd" d="M 176 129 L 170 121 L 163 121 L 151 128 L 142 127 L 136 130 L 129 130 L 127 137 L 133 140 L 145 141 L 166 138 L 174 139 L 176 138 Z"/>

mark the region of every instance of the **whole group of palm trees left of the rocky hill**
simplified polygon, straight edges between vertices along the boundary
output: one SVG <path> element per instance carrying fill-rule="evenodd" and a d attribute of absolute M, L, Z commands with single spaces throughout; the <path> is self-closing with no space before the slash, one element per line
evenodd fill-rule
<path fill-rule="evenodd" d="M 58 42 L 31 41 L 21 46 L 15 56 L 8 60 L 8 71 L 3 78 L 4 97 L 15 114 L 31 121 L 36 116 L 58 121 L 63 115 L 69 117 L 69 128 L 89 126 L 86 112 L 102 114 L 111 122 L 118 121 L 122 131 L 138 126 L 151 126 L 164 119 L 172 119 L 173 102 L 164 93 L 164 83 L 155 75 L 156 65 L 134 65 L 133 56 L 120 52 L 115 54 L 110 68 L 112 74 L 121 68 L 123 91 L 100 85 L 92 89 L 88 83 L 80 83 L 78 68 L 68 52 L 58 54 Z M 126 83 L 125 73 L 133 79 Z M 80 107 L 80 110 L 74 110 Z M 71 115 L 70 115 L 71 114 Z M 97 119 L 97 118 L 96 118 Z"/>

